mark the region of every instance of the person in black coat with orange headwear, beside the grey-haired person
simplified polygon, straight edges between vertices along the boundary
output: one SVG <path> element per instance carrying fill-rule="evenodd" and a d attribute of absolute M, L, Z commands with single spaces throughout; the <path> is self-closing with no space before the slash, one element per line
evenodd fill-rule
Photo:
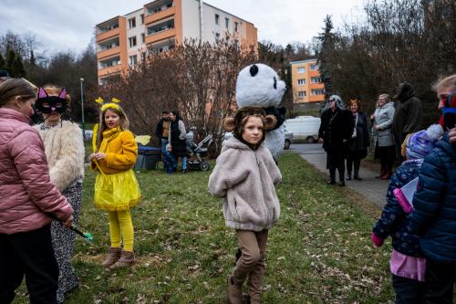
<path fill-rule="evenodd" d="M 347 181 L 351 180 L 351 172 L 354 167 L 355 173 L 353 178 L 361 181 L 359 177 L 359 166 L 361 160 L 368 155 L 369 134 L 368 134 L 368 118 L 366 114 L 360 111 L 361 100 L 350 100 L 349 107 L 353 115 L 353 133 L 351 140 L 348 142 L 347 152 Z"/>

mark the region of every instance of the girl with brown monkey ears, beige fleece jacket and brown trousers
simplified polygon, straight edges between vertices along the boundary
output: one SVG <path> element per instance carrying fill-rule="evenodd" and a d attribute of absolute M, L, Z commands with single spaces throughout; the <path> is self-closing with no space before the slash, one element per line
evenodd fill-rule
<path fill-rule="evenodd" d="M 225 224 L 236 230 L 242 251 L 228 277 L 228 299 L 233 304 L 243 303 L 247 277 L 248 299 L 260 303 L 267 235 L 280 215 L 275 185 L 282 175 L 263 143 L 265 131 L 274 126 L 275 117 L 265 116 L 260 107 L 244 107 L 234 118 L 225 119 L 223 129 L 233 131 L 233 138 L 224 142 L 209 177 L 209 190 L 224 198 Z"/>

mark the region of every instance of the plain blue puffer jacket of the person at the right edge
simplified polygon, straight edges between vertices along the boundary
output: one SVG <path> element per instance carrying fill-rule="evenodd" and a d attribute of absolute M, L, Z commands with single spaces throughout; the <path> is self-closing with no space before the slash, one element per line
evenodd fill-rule
<path fill-rule="evenodd" d="M 421 236 L 424 255 L 456 264 L 456 148 L 448 133 L 422 164 L 413 206 L 409 228 Z"/>

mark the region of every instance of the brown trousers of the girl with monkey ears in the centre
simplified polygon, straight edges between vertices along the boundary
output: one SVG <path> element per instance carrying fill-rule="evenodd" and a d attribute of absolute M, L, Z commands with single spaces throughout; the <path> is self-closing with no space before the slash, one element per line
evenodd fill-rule
<path fill-rule="evenodd" d="M 248 277 L 247 286 L 251 299 L 260 299 L 264 277 L 264 256 L 268 230 L 260 232 L 236 230 L 238 246 L 243 252 L 233 269 L 232 278 L 242 285 Z"/>

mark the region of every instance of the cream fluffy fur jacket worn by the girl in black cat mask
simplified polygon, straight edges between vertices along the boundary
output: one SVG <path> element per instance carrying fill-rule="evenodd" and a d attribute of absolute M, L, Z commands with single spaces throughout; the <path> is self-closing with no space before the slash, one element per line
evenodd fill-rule
<path fill-rule="evenodd" d="M 45 145 L 51 182 L 63 192 L 69 185 L 84 178 L 84 142 L 77 123 L 63 121 L 55 127 L 41 130 L 35 126 Z"/>

